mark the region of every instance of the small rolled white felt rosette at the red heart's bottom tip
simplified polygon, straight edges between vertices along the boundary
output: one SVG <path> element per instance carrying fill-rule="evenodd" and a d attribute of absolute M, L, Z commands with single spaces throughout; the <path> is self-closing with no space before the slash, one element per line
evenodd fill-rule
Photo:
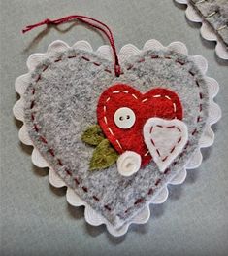
<path fill-rule="evenodd" d="M 134 151 L 125 151 L 117 159 L 117 170 L 125 177 L 136 173 L 141 166 L 141 156 Z"/>

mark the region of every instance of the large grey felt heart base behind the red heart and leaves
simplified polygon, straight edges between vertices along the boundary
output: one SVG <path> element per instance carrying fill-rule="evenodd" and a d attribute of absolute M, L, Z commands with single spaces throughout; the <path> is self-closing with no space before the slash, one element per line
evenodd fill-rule
<path fill-rule="evenodd" d="M 112 62 L 81 50 L 49 55 L 31 74 L 24 109 L 35 147 L 82 200 L 115 226 L 131 219 L 186 164 L 198 147 L 209 108 L 204 77 L 185 55 L 149 50 L 121 68 L 123 74 L 117 78 Z M 160 173 L 153 161 L 131 177 L 121 176 L 116 165 L 89 171 L 94 148 L 83 143 L 81 135 L 97 124 L 99 96 L 117 82 L 142 93 L 161 87 L 179 95 L 189 142 L 169 174 Z"/>

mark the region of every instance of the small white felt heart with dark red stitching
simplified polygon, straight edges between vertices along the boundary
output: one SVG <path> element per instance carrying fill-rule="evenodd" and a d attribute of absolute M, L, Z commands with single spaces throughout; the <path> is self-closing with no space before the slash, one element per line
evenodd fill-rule
<path fill-rule="evenodd" d="M 178 119 L 150 118 L 144 126 L 147 149 L 161 172 L 181 153 L 187 138 L 187 127 Z"/>

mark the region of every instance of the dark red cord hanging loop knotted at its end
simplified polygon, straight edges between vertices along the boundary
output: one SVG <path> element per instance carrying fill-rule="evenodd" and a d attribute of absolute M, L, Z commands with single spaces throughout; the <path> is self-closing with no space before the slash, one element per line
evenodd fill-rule
<path fill-rule="evenodd" d="M 120 65 L 119 65 L 118 56 L 117 56 L 116 48 L 115 48 L 115 44 L 114 44 L 114 35 L 113 35 L 111 29 L 109 28 L 109 26 L 107 26 L 105 23 L 103 23 L 103 22 L 101 22 L 101 21 L 99 21 L 95 18 L 89 18 L 89 17 L 86 17 L 86 16 L 78 16 L 78 15 L 68 16 L 68 17 L 58 18 L 58 19 L 53 19 L 53 20 L 50 20 L 49 18 L 47 18 L 47 19 L 45 19 L 45 20 L 43 20 L 39 23 L 36 23 L 34 25 L 26 26 L 26 28 L 23 29 L 22 32 L 26 33 L 26 32 L 32 30 L 35 27 L 42 26 L 42 25 L 45 25 L 45 24 L 47 24 L 47 25 L 49 25 L 49 24 L 58 25 L 58 24 L 65 23 L 65 22 L 68 22 L 68 21 L 71 21 L 71 20 L 75 20 L 75 19 L 102 31 L 106 35 L 106 37 L 108 38 L 108 40 L 110 42 L 112 50 L 114 52 L 114 73 L 115 73 L 115 76 L 119 77 L 120 74 L 121 74 L 121 68 L 120 68 Z"/>

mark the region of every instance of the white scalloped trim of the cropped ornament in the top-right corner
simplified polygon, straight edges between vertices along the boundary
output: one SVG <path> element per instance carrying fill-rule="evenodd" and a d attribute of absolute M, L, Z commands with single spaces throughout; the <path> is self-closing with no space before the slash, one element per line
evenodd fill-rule
<path fill-rule="evenodd" d="M 185 11 L 186 18 L 188 18 L 192 22 L 202 23 L 200 32 L 204 39 L 208 41 L 216 41 L 215 53 L 218 57 L 223 59 L 228 59 L 228 51 L 226 47 L 222 43 L 221 39 L 214 33 L 212 27 L 203 20 L 203 18 L 196 12 L 196 10 L 192 7 L 189 0 L 175 0 L 179 4 L 187 5 L 187 9 Z"/>

